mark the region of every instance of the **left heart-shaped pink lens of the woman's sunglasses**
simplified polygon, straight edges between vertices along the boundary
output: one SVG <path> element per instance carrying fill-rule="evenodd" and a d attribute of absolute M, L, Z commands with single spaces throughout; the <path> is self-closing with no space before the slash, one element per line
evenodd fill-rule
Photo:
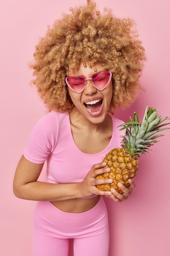
<path fill-rule="evenodd" d="M 85 77 L 84 76 L 68 76 L 67 82 L 70 85 L 70 87 L 75 90 L 76 92 L 81 92 L 85 88 Z"/>

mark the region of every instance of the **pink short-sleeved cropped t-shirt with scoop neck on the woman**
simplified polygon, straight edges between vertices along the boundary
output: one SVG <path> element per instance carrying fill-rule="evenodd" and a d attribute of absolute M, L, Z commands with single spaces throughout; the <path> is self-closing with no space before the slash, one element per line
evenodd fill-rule
<path fill-rule="evenodd" d="M 72 137 L 70 115 L 52 110 L 35 124 L 23 155 L 36 164 L 47 161 L 46 181 L 49 183 L 82 182 L 94 164 L 102 162 L 111 149 L 120 147 L 120 135 L 125 134 L 125 129 L 118 131 L 121 127 L 117 126 L 124 121 L 108 115 L 112 119 L 113 134 L 109 145 L 100 153 L 83 153 Z M 94 196 L 96 194 L 87 198 Z"/>

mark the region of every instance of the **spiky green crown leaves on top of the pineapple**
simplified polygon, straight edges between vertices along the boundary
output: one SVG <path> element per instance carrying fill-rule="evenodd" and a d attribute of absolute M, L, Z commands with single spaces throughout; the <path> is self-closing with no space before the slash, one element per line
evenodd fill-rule
<path fill-rule="evenodd" d="M 156 142 L 159 142 L 157 140 L 158 137 L 164 136 L 161 134 L 155 136 L 153 135 L 162 130 L 170 129 L 168 127 L 161 128 L 165 125 L 170 124 L 161 124 L 166 119 L 170 120 L 170 118 L 161 118 L 161 116 L 157 115 L 157 112 L 158 110 L 156 108 L 153 109 L 152 107 L 150 107 L 148 109 L 148 106 L 146 106 L 146 110 L 141 124 L 139 124 L 137 113 L 134 112 L 133 120 L 130 117 L 130 121 L 128 123 L 124 123 L 118 126 L 124 126 L 120 130 L 126 129 L 126 135 L 120 136 L 123 138 L 121 146 L 126 152 L 130 153 L 132 157 L 140 157 L 140 154 L 146 155 L 145 152 L 148 153 L 148 150 L 150 150 L 148 147 L 153 146 Z"/>

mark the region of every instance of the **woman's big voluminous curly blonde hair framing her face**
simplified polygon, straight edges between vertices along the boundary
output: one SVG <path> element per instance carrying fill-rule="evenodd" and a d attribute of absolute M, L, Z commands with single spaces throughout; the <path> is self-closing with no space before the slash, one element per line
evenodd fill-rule
<path fill-rule="evenodd" d="M 84 67 L 86 63 L 93 67 L 100 62 L 112 73 L 113 96 L 108 112 L 114 114 L 118 107 L 129 107 L 138 89 L 144 90 L 139 77 L 146 56 L 142 41 L 137 40 L 135 21 L 116 18 L 107 8 L 101 15 L 93 0 L 69 10 L 71 14 L 62 14 L 52 28 L 48 26 L 46 35 L 39 38 L 34 61 L 29 63 L 36 76 L 30 84 L 36 85 L 48 112 L 70 112 L 74 104 L 65 77 L 81 62 Z"/>

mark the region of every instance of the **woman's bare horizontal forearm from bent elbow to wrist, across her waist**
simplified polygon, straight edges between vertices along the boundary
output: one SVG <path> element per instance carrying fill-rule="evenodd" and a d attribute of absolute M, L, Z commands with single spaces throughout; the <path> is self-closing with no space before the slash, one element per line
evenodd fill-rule
<path fill-rule="evenodd" d="M 57 201 L 80 198 L 80 183 L 30 182 L 22 186 L 15 196 L 25 200 Z"/>

